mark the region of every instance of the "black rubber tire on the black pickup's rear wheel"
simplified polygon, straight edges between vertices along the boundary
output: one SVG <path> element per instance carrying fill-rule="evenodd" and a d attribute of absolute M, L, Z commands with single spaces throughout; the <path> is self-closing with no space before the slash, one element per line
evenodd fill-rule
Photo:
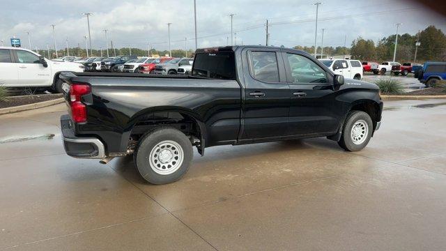
<path fill-rule="evenodd" d="M 177 166 L 175 168 L 174 172 L 169 174 L 160 174 L 160 172 L 169 172 L 169 168 L 175 167 L 174 165 L 176 163 L 173 158 L 178 155 L 175 155 L 171 152 L 171 149 L 174 149 L 173 151 L 175 152 L 175 148 L 173 147 L 174 145 L 170 146 L 170 148 L 168 146 L 165 147 L 166 150 L 170 151 L 171 156 L 174 156 L 170 157 L 170 160 L 172 160 L 172 162 L 167 162 L 172 163 L 171 167 L 160 166 L 160 164 L 164 165 L 164 162 L 160 162 L 160 158 L 153 158 L 151 156 L 153 151 L 155 151 L 154 154 L 159 154 L 159 156 L 161 157 L 161 148 L 155 150 L 155 146 L 157 146 L 158 144 L 162 144 L 163 142 L 174 142 L 176 143 L 175 147 L 180 147 L 180 149 L 178 149 L 178 152 L 180 152 L 180 150 L 183 151 L 183 162 L 178 165 L 179 167 Z M 155 185 L 172 183 L 174 181 L 178 181 L 178 179 L 180 179 L 189 169 L 190 162 L 192 162 L 193 158 L 192 143 L 186 137 L 186 135 L 179 130 L 176 130 L 174 128 L 158 128 L 151 132 L 148 132 L 139 140 L 139 144 L 136 151 L 134 151 L 133 158 L 134 164 L 136 165 L 139 174 L 141 174 L 141 177 L 149 183 Z M 157 165 L 159 169 L 153 167 L 153 164 L 151 163 L 156 163 L 155 165 Z M 162 169 L 163 167 L 164 169 Z"/>

